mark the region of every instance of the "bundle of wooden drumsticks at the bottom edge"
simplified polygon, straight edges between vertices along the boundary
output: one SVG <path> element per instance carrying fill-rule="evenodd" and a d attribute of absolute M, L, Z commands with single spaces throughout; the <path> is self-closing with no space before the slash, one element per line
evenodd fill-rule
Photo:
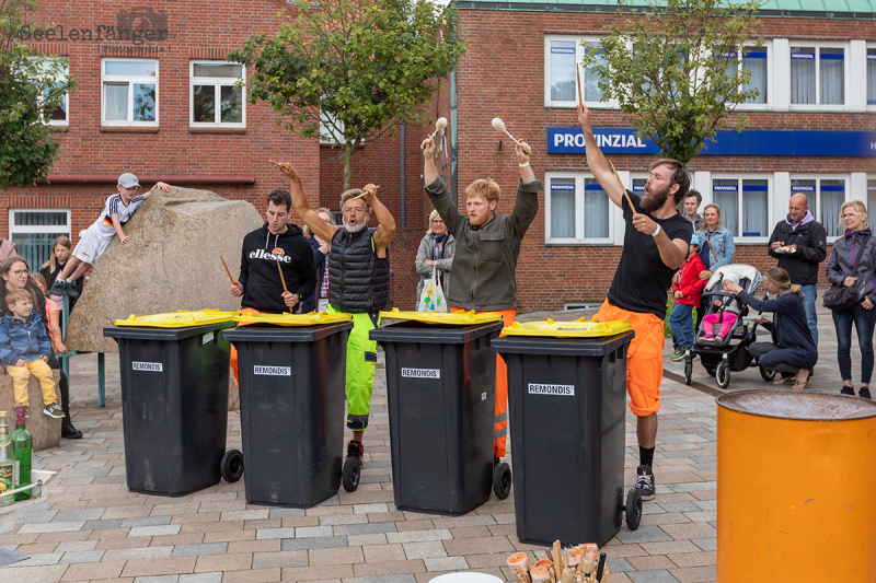
<path fill-rule="evenodd" d="M 544 558 L 529 564 L 526 552 L 508 557 L 517 583 L 608 583 L 610 569 L 606 564 L 606 553 L 590 543 L 563 549 L 560 540 L 554 541 L 553 553 L 548 550 Z"/>

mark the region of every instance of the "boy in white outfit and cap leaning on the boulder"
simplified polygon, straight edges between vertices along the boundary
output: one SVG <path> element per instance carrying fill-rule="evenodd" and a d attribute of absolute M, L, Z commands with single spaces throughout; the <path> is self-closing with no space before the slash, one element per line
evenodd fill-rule
<path fill-rule="evenodd" d="M 152 190 L 158 188 L 165 193 L 171 189 L 170 185 L 164 183 L 155 183 L 148 193 L 145 195 L 137 195 L 137 189 L 140 183 L 134 174 L 123 174 L 118 177 L 118 185 L 116 189 L 117 195 L 113 195 L 106 199 L 103 213 L 94 224 L 89 226 L 79 244 L 73 249 L 73 256 L 64 266 L 64 269 L 55 279 L 55 284 L 51 285 L 51 293 L 60 295 L 65 291 L 71 298 L 79 295 L 76 289 L 76 280 L 85 275 L 85 271 L 97 263 L 104 250 L 106 250 L 113 237 L 118 235 L 122 243 L 127 243 L 130 236 L 122 231 L 122 226 L 128 222 L 143 200 L 149 198 Z"/>

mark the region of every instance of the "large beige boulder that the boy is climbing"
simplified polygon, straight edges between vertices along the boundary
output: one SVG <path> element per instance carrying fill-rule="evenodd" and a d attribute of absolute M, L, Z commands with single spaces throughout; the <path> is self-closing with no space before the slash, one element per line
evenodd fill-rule
<path fill-rule="evenodd" d="M 77 352 L 118 352 L 104 326 L 178 310 L 240 310 L 229 293 L 224 257 L 237 280 L 243 236 L 264 220 L 251 203 L 208 190 L 155 190 L 94 266 L 70 315 L 66 343 Z M 44 416 L 45 417 L 45 416 Z"/>

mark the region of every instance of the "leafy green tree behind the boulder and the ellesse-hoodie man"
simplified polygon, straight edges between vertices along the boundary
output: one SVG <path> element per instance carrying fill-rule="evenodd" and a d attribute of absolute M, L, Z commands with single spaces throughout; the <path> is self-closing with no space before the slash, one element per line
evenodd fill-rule
<path fill-rule="evenodd" d="M 260 34 L 229 60 L 252 70 L 262 100 L 303 138 L 341 148 L 344 189 L 359 144 L 426 123 L 424 105 L 464 51 L 457 13 L 430 0 L 290 0 L 296 13 L 273 38 Z M 321 129 L 322 121 L 322 129 Z"/>

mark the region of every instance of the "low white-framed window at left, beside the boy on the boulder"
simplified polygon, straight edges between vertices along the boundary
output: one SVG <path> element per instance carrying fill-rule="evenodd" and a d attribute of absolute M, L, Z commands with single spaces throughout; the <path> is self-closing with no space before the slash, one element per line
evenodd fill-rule
<path fill-rule="evenodd" d="M 51 256 L 51 244 L 70 236 L 70 211 L 66 209 L 10 209 L 9 238 L 32 271 Z"/>

